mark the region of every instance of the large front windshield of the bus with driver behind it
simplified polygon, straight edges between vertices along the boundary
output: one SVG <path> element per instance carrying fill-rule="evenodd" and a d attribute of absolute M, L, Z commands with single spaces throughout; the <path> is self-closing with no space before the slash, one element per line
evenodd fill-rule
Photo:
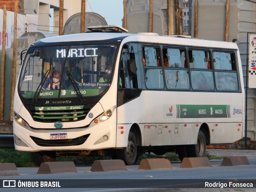
<path fill-rule="evenodd" d="M 97 96 L 110 86 L 116 45 L 30 48 L 20 75 L 23 98 Z"/>

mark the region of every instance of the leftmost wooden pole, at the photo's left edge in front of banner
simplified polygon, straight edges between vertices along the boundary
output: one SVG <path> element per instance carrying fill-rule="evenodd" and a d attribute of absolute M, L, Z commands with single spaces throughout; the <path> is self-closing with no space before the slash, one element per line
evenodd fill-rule
<path fill-rule="evenodd" d="M 2 34 L 2 62 L 1 62 L 1 100 L 0 120 L 4 120 L 4 66 L 5 66 L 5 44 L 6 44 L 6 5 L 4 5 L 3 34 Z"/>

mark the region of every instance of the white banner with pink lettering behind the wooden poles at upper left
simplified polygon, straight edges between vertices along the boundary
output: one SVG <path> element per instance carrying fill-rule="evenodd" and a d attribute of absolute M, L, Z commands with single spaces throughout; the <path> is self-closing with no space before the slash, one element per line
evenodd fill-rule
<path fill-rule="evenodd" d="M 4 10 L 0 9 L 0 50 L 2 50 L 2 32 L 3 32 Z M 25 16 L 18 14 L 17 16 L 17 38 L 20 38 L 25 32 Z M 6 46 L 10 48 L 14 39 L 14 12 L 6 11 Z"/>

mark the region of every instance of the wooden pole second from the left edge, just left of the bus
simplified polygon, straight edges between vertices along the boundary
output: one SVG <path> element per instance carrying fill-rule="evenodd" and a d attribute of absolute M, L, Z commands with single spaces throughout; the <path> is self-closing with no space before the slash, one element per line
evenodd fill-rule
<path fill-rule="evenodd" d="M 14 34 L 13 34 L 13 54 L 12 54 L 12 96 L 10 108 L 10 121 L 13 120 L 13 102 L 15 92 L 16 80 L 16 55 L 17 55 L 17 13 L 18 13 L 18 0 L 14 2 Z"/>

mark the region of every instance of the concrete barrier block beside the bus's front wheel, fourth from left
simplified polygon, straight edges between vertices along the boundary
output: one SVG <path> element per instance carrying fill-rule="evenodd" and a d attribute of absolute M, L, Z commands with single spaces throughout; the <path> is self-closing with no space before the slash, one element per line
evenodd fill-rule
<path fill-rule="evenodd" d="M 142 159 L 140 162 L 139 170 L 150 169 L 171 169 L 172 165 L 168 159 Z"/>

